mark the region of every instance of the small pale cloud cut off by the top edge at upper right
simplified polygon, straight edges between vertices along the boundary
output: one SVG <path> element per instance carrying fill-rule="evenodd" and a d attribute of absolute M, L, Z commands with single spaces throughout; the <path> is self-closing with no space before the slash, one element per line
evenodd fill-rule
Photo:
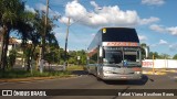
<path fill-rule="evenodd" d="M 163 6 L 163 4 L 165 4 L 165 0 L 142 0 L 142 4 Z"/>

